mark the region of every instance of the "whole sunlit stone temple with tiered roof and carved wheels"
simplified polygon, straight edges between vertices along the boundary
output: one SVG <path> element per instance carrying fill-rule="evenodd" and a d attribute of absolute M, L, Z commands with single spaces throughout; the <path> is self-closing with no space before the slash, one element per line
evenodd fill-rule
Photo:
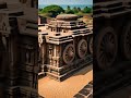
<path fill-rule="evenodd" d="M 93 32 L 74 14 L 60 14 L 38 27 L 40 74 L 63 81 L 92 62 Z"/>

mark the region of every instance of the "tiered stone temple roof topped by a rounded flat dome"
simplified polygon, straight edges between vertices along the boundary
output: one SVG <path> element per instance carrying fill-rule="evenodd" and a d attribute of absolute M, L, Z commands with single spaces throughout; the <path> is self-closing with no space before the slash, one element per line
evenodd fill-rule
<path fill-rule="evenodd" d="M 76 36 L 91 34 L 91 29 L 74 14 L 60 14 L 49 24 L 40 26 L 39 29 L 39 34 L 46 36 L 47 42 L 56 45 L 71 41 Z"/>

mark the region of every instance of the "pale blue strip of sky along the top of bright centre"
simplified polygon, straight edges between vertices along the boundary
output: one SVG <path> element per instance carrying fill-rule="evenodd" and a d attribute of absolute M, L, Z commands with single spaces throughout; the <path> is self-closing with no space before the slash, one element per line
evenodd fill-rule
<path fill-rule="evenodd" d="M 38 0 L 39 4 L 93 4 L 93 0 Z"/>

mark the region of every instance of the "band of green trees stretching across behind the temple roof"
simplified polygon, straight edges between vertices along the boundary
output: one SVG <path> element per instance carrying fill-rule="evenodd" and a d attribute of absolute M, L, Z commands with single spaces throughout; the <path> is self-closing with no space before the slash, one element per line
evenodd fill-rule
<path fill-rule="evenodd" d="M 82 16 L 83 14 L 92 13 L 92 12 L 93 12 L 93 9 L 88 7 L 81 9 L 76 7 L 71 8 L 70 5 L 68 5 L 67 9 L 63 10 L 62 7 L 56 5 L 56 4 L 51 4 L 51 5 L 45 7 L 44 9 L 38 10 L 39 14 L 43 14 L 49 17 L 56 17 L 60 13 L 76 14 L 79 16 Z"/>

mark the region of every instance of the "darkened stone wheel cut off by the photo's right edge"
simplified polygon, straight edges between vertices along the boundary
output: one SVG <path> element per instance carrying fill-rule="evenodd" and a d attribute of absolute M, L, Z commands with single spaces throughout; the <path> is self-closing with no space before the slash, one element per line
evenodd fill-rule
<path fill-rule="evenodd" d="M 131 21 L 127 24 L 121 36 L 121 48 L 127 60 L 131 60 Z"/>

